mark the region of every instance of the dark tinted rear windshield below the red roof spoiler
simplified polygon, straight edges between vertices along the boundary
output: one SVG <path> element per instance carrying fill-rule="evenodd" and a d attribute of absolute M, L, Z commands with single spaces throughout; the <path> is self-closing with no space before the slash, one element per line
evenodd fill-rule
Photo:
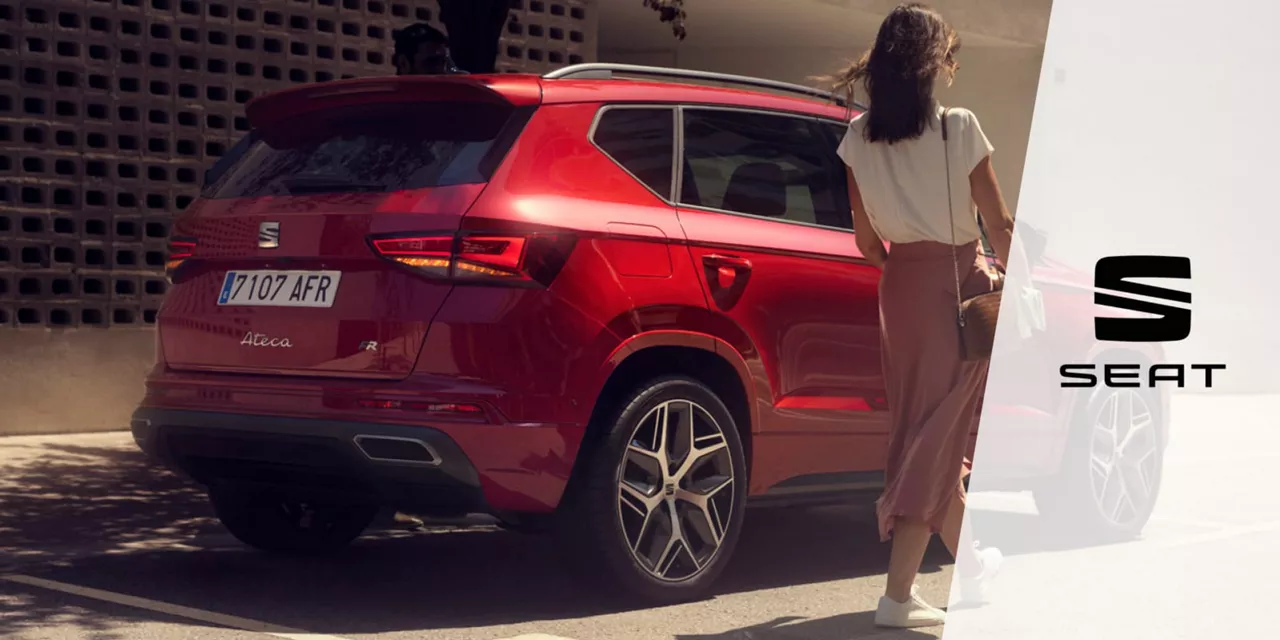
<path fill-rule="evenodd" d="M 512 108 L 399 102 L 330 109 L 253 131 L 209 174 L 204 197 L 390 192 L 481 183 Z"/>

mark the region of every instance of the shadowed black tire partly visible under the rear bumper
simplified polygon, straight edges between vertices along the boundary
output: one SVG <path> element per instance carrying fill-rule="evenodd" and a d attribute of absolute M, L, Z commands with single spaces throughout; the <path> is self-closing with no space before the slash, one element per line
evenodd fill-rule
<path fill-rule="evenodd" d="M 214 513 L 237 540 L 260 550 L 291 554 L 328 553 L 351 544 L 378 516 L 378 507 L 351 503 L 305 503 L 250 489 L 209 492 Z"/>

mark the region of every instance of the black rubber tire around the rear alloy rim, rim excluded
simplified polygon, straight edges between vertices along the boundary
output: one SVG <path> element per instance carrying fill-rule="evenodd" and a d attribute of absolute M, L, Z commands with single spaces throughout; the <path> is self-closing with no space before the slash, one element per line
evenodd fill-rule
<path fill-rule="evenodd" d="M 664 376 L 641 384 L 623 397 L 616 411 L 608 413 L 605 429 L 581 474 L 575 477 L 568 508 L 561 517 L 558 538 L 572 564 L 603 581 L 612 590 L 637 595 L 650 603 L 669 604 L 705 595 L 724 570 L 737 545 L 745 520 L 746 461 L 737 425 L 724 403 L 704 384 L 685 376 Z M 618 468 L 640 420 L 654 407 L 672 399 L 687 399 L 705 408 L 717 421 L 728 445 L 733 467 L 733 511 L 710 564 L 696 576 L 668 582 L 649 575 L 632 557 L 617 515 Z M 602 571 L 603 567 L 603 571 Z"/>

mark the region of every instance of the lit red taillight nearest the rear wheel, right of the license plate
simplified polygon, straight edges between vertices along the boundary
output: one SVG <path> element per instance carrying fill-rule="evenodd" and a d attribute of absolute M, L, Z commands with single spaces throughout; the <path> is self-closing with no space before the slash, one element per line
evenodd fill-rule
<path fill-rule="evenodd" d="M 416 271 L 458 283 L 550 285 L 576 238 L 563 233 L 460 233 L 370 238 L 374 251 Z"/>

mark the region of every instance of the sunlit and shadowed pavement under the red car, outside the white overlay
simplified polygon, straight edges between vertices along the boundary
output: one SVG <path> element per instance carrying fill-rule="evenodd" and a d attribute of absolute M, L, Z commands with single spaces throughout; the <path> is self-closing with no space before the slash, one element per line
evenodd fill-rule
<path fill-rule="evenodd" d="M 887 548 L 865 507 L 753 512 L 717 595 L 666 608 L 584 590 L 548 540 L 485 526 L 375 532 L 320 561 L 246 550 L 198 488 L 146 466 L 127 434 L 0 439 L 0 575 L 52 585 L 0 580 L 0 637 L 256 636 L 209 622 L 219 616 L 343 639 L 884 635 L 870 611 Z M 948 562 L 936 549 L 920 579 L 938 602 Z M 101 599 L 115 596 L 141 600 Z M 166 613 L 182 607 L 209 616 Z"/>

